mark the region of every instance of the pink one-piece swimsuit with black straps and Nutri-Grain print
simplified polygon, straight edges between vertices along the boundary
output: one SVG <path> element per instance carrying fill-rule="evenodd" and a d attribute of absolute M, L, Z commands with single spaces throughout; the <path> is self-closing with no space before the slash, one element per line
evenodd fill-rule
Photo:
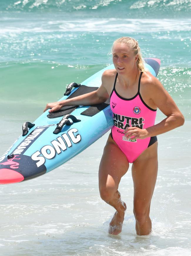
<path fill-rule="evenodd" d="M 145 139 L 127 139 L 124 134 L 124 130 L 127 127 L 145 129 L 155 124 L 156 109 L 150 108 L 140 95 L 140 79 L 142 74 L 143 72 L 140 74 L 137 94 L 131 99 L 125 99 L 115 89 L 117 73 L 110 96 L 110 106 L 113 111 L 114 120 L 111 136 L 125 154 L 129 163 L 133 163 L 146 148 L 157 141 L 156 136 Z"/>

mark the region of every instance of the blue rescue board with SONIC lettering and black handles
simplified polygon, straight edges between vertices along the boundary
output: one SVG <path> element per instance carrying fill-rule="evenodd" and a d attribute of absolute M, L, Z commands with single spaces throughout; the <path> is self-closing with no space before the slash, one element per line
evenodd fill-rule
<path fill-rule="evenodd" d="M 145 58 L 145 67 L 157 76 L 160 60 Z M 98 89 L 107 66 L 81 84 L 68 85 L 60 100 Z M 23 133 L 0 157 L 0 184 L 17 183 L 43 175 L 67 162 L 113 127 L 109 100 L 92 106 L 68 106 L 23 124 Z"/>

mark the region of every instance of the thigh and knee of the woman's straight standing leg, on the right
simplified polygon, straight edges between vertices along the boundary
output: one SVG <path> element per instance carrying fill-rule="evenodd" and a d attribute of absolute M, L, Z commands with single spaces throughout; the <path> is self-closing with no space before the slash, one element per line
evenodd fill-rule
<path fill-rule="evenodd" d="M 149 214 L 158 172 L 158 142 L 148 147 L 133 162 L 134 211 Z"/>

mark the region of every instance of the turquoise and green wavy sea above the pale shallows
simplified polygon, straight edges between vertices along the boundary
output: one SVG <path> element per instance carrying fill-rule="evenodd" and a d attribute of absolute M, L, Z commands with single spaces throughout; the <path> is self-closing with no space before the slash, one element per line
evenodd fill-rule
<path fill-rule="evenodd" d="M 144 57 L 160 58 L 158 78 L 190 120 L 190 7 L 187 0 L 2 0 L 0 104 L 17 102 L 17 115 L 23 103 L 43 108 L 71 81 L 111 64 L 113 41 L 131 36 Z"/>

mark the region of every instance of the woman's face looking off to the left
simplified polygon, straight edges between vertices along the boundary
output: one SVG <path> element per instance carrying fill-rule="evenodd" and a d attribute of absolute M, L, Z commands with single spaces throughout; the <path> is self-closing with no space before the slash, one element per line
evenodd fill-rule
<path fill-rule="evenodd" d="M 134 55 L 133 50 L 125 43 L 115 43 L 113 45 L 113 64 L 119 74 L 132 70 L 138 56 Z"/>

